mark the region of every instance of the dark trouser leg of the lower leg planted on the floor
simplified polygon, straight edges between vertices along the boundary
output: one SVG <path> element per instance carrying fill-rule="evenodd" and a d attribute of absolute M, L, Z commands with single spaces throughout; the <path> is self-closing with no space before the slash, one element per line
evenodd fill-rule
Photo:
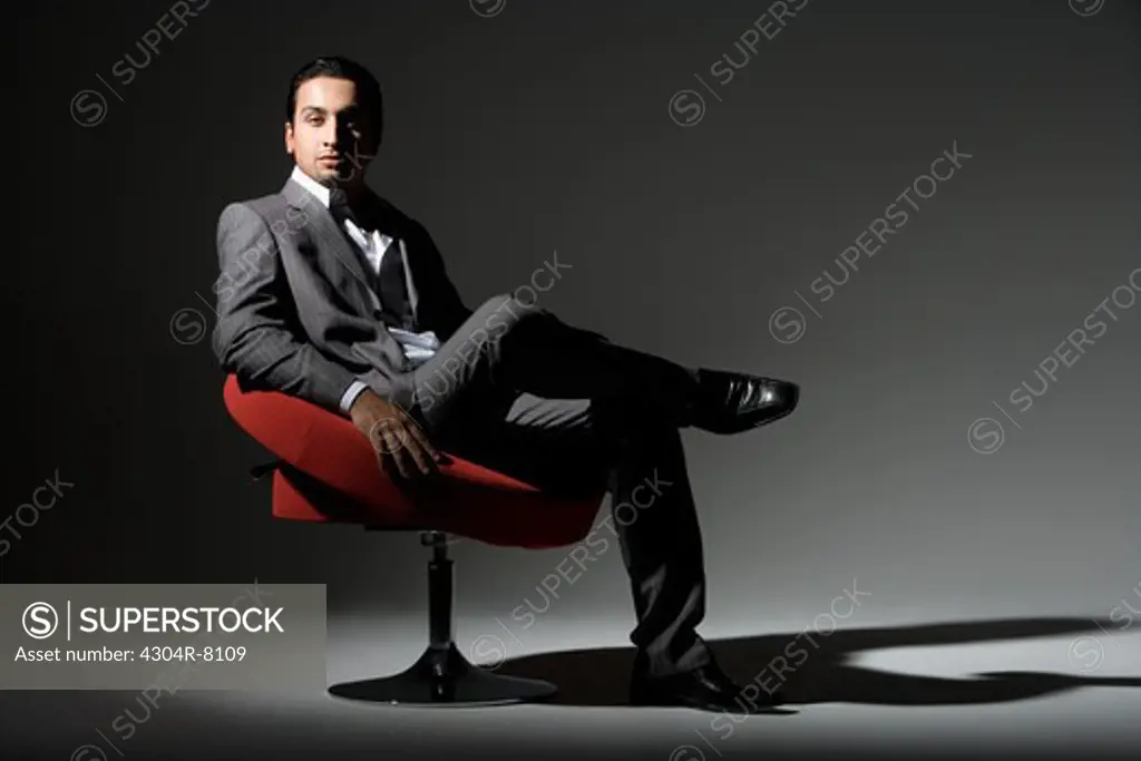
<path fill-rule="evenodd" d="M 440 448 L 552 492 L 610 493 L 610 512 L 592 533 L 621 548 L 638 620 L 630 640 L 649 673 L 709 662 L 695 631 L 705 614 L 701 531 L 681 435 L 667 415 L 641 399 L 531 392 L 486 395 L 463 408 L 429 424 Z"/>

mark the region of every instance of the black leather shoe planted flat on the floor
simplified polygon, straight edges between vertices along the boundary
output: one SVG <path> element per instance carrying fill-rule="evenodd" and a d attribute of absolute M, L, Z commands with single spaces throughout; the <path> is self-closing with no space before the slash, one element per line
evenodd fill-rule
<path fill-rule="evenodd" d="M 759 691 L 758 695 L 753 695 Z M 630 705 L 681 706 L 719 713 L 762 713 L 784 703 L 780 690 L 771 695 L 734 682 L 715 664 L 669 677 L 647 677 L 636 670 L 630 680 Z"/>

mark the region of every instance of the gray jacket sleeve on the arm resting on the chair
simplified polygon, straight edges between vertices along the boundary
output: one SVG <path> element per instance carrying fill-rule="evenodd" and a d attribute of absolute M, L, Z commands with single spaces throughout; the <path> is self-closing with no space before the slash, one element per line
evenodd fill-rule
<path fill-rule="evenodd" d="M 221 274 L 212 346 L 222 370 L 243 388 L 283 391 L 343 414 L 341 397 L 355 374 L 306 338 L 265 219 L 232 203 L 218 218 L 217 242 Z"/>

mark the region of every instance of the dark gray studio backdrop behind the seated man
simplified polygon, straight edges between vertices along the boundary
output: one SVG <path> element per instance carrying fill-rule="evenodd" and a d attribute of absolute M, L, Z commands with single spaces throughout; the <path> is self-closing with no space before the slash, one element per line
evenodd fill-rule
<path fill-rule="evenodd" d="M 215 0 L 129 83 L 170 6 L 73 6 L 16 26 L 2 515 L 74 486 L 10 524 L 3 581 L 326 582 L 333 613 L 422 615 L 414 536 L 270 519 L 201 330 L 217 216 L 285 180 L 288 76 L 338 52 L 385 88 L 371 185 L 469 306 L 557 251 L 567 322 L 801 384 L 767 429 L 685 435 L 709 621 L 764 632 L 762 604 L 856 578 L 913 621 L 1108 614 L 1138 583 L 1139 3 Z M 504 616 L 566 549 L 454 554 L 459 615 Z M 632 626 L 617 552 L 559 616 Z"/>

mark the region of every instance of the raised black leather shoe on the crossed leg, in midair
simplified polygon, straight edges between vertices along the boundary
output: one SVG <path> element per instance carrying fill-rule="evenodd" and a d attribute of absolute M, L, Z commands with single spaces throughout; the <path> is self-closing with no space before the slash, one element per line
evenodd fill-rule
<path fill-rule="evenodd" d="M 790 381 L 701 367 L 690 424 L 738 434 L 784 418 L 799 399 L 800 387 Z"/>

